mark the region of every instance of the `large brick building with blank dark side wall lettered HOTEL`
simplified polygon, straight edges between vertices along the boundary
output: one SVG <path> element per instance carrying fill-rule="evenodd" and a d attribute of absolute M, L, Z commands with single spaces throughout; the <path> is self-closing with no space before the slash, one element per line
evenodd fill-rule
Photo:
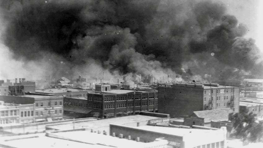
<path fill-rule="evenodd" d="M 158 112 L 172 118 L 193 111 L 231 108 L 239 111 L 239 87 L 211 83 L 159 83 Z"/>

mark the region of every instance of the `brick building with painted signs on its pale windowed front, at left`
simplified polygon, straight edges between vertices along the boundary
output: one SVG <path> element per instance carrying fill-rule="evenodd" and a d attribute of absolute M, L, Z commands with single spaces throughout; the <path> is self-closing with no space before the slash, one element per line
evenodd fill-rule
<path fill-rule="evenodd" d="M 63 117 L 63 96 L 0 96 L 0 100 L 22 105 L 23 111 L 20 111 L 21 122 L 29 122 L 28 117 L 32 116 L 35 122 L 60 120 Z M 34 104 L 34 106 L 28 104 Z"/>

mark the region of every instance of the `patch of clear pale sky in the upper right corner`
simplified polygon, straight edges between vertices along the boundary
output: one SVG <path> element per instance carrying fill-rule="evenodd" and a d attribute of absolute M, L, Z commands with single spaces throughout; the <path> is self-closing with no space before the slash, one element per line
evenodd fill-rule
<path fill-rule="evenodd" d="M 214 0 L 218 1 L 218 0 Z M 261 43 L 262 30 L 262 2 L 260 0 L 220 0 L 228 7 L 227 11 L 237 17 L 239 23 L 247 25 L 248 32 L 245 37 L 254 38 L 256 44 L 263 51 Z"/>

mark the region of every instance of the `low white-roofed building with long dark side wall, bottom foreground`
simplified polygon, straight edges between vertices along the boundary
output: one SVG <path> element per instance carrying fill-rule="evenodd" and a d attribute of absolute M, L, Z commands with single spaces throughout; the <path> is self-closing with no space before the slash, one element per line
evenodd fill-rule
<path fill-rule="evenodd" d="M 168 141 L 167 147 L 170 148 L 226 148 L 226 128 L 211 129 L 110 124 L 110 135 L 122 135 L 131 139 L 139 137 L 144 142 L 162 138 Z"/>

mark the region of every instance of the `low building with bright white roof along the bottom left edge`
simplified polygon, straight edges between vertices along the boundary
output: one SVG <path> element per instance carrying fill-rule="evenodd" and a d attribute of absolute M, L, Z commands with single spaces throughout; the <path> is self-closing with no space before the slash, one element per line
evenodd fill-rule
<path fill-rule="evenodd" d="M 87 138 L 88 137 L 88 138 Z M 34 142 L 32 142 L 34 141 Z M 86 131 L 85 129 L 46 132 L 16 137 L 4 137 L 0 140 L 1 147 L 52 147 L 52 148 L 166 148 L 167 140 L 155 139 L 153 142 L 128 140 L 122 137 L 113 137 L 104 133 Z"/>

